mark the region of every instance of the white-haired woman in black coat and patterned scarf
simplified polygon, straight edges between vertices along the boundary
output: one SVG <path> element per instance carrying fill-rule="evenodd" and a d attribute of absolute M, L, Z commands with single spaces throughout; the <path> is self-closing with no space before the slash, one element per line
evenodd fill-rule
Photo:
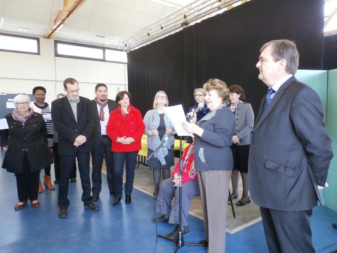
<path fill-rule="evenodd" d="M 30 97 L 14 97 L 14 111 L 5 116 L 9 129 L 1 136 L 2 150 L 6 151 L 2 168 L 15 173 L 19 203 L 14 209 L 27 204 L 40 206 L 37 200 L 40 170 L 50 166 L 53 158 L 47 145 L 47 126 L 43 116 L 29 107 Z"/>

